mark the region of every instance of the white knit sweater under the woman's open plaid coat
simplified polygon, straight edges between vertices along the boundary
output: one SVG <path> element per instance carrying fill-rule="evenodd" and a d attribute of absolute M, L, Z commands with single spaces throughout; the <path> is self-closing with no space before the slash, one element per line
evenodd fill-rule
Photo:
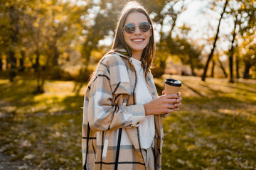
<path fill-rule="evenodd" d="M 142 62 L 130 58 L 137 72 L 137 88 L 136 99 L 137 104 L 149 103 L 153 98 L 149 93 L 149 89 L 146 87 L 146 80 L 144 76 L 144 70 L 142 69 Z M 139 125 L 139 134 L 141 137 L 141 144 L 143 149 L 148 149 L 154 140 L 155 128 L 154 128 L 154 115 L 147 115 L 144 122 Z"/>

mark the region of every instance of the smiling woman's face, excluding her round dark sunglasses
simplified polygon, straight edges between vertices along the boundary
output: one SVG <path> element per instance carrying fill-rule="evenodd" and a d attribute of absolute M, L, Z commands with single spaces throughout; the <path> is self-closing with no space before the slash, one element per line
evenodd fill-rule
<path fill-rule="evenodd" d="M 132 49 L 132 53 L 142 53 L 146 45 L 148 45 L 149 38 L 152 34 L 151 29 L 146 32 L 142 32 L 142 30 L 139 29 L 139 23 L 142 22 L 148 22 L 146 16 L 143 13 L 134 11 L 132 13 L 129 13 L 124 23 L 124 25 L 127 23 L 133 23 L 136 26 L 134 32 L 130 34 L 123 30 L 124 40 L 125 42 L 127 42 L 127 45 Z"/>

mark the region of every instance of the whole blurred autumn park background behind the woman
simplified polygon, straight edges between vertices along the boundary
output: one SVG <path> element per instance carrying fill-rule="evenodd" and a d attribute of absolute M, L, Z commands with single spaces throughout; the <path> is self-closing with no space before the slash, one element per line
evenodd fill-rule
<path fill-rule="evenodd" d="M 122 0 L 0 1 L 0 169 L 80 169 L 83 94 Z M 256 1 L 142 0 L 154 74 L 183 83 L 162 169 L 256 169 Z"/>

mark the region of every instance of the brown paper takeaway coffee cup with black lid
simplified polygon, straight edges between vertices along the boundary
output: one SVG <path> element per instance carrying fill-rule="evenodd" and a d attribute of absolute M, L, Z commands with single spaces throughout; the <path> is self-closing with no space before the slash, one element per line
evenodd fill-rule
<path fill-rule="evenodd" d="M 165 81 L 164 94 L 178 94 L 181 81 L 167 78 Z"/>

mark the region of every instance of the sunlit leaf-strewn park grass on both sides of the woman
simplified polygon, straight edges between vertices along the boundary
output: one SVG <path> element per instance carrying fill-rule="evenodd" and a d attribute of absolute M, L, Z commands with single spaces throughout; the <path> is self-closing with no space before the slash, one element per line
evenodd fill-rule
<path fill-rule="evenodd" d="M 183 83 L 183 105 L 164 120 L 162 169 L 256 169 L 256 81 L 171 78 Z M 33 77 L 0 74 L 0 151 L 33 169 L 81 169 L 85 86 L 74 85 L 48 80 L 34 94 Z"/>

